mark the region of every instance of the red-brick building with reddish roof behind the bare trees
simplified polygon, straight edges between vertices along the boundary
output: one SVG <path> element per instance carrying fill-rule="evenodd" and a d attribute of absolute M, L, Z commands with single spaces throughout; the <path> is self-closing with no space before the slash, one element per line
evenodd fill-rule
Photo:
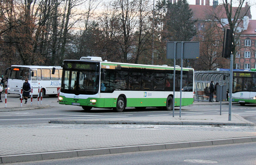
<path fill-rule="evenodd" d="M 174 0 L 176 2 L 176 0 Z M 201 3 L 200 3 L 201 2 Z M 195 5 L 189 7 L 193 11 L 193 19 L 198 19 L 197 29 L 204 26 L 204 22 L 213 21 L 214 15 L 228 23 L 226 11 L 223 5 L 218 5 L 218 1 L 213 0 L 213 6 L 210 6 L 209 0 L 195 0 Z M 249 8 L 246 3 L 241 10 L 241 15 Z M 232 15 L 235 14 L 237 7 L 232 7 Z M 244 12 L 244 13 L 243 13 Z M 217 15 L 216 15 L 217 13 Z M 256 20 L 252 20 L 250 9 L 243 17 L 240 27 L 236 31 L 236 53 L 234 54 L 235 69 L 256 68 Z M 222 44 L 219 44 L 222 47 Z"/>

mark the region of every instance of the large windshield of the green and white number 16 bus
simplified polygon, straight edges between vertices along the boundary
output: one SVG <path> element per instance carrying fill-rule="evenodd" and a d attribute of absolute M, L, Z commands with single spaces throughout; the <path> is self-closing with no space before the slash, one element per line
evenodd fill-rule
<path fill-rule="evenodd" d="M 99 90 L 99 64 L 90 63 L 89 65 L 90 67 L 87 69 L 81 69 L 81 65 L 79 65 L 79 68 L 77 68 L 76 71 L 74 71 L 74 69 L 69 71 L 68 68 L 66 68 L 67 70 L 63 72 L 63 83 L 61 84 L 61 90 L 65 91 L 66 93 L 73 93 L 76 95 L 97 94 Z"/>

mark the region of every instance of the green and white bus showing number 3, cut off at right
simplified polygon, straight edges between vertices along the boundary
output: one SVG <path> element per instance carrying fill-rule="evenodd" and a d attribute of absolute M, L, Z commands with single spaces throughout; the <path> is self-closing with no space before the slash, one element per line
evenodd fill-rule
<path fill-rule="evenodd" d="M 256 69 L 233 71 L 232 102 L 256 103 Z"/>

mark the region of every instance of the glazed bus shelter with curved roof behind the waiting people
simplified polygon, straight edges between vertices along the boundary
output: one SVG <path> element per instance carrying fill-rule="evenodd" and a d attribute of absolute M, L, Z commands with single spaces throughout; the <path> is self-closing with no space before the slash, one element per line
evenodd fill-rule
<path fill-rule="evenodd" d="M 195 71 L 195 84 L 194 84 L 194 101 L 208 101 L 206 96 L 202 96 L 206 86 L 209 88 L 210 81 L 213 85 L 217 82 L 219 85 L 229 87 L 229 71 Z"/>

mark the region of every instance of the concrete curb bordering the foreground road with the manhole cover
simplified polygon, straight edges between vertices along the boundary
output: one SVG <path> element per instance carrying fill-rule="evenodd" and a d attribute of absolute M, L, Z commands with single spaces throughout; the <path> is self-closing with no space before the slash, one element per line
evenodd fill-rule
<path fill-rule="evenodd" d="M 30 153 L 30 154 L 3 155 L 3 156 L 0 156 L 0 163 L 41 161 L 41 160 L 48 160 L 48 159 L 63 159 L 63 158 L 80 157 L 80 156 L 93 156 L 93 155 L 102 155 L 102 154 L 116 154 L 116 153 L 150 151 L 150 150 L 169 150 L 169 149 L 175 149 L 175 148 L 215 146 L 215 145 L 237 144 L 237 143 L 247 143 L 247 142 L 256 142 L 256 136 L 229 138 L 229 139 L 202 140 L 202 141 L 184 141 L 184 142 L 163 143 L 163 144 L 147 144 L 147 145 L 137 145 L 137 146 L 118 146 L 118 147 L 110 147 L 110 148 L 93 148 L 93 149 L 85 149 L 85 150 L 66 150 L 66 151 L 41 152 L 41 153 Z"/>

